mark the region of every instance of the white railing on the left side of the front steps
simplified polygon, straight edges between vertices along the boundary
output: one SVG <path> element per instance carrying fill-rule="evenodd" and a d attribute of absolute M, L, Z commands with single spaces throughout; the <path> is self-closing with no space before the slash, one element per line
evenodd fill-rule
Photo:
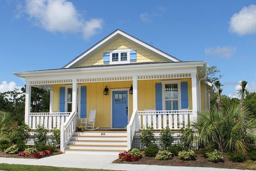
<path fill-rule="evenodd" d="M 74 135 L 77 127 L 77 113 L 74 111 L 61 125 L 61 152 L 65 152 L 69 140 Z"/>

